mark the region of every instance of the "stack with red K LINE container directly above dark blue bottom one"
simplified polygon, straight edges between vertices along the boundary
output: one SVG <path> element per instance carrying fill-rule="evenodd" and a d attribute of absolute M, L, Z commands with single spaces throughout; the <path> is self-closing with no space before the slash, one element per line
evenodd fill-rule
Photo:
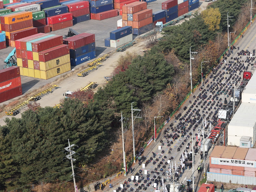
<path fill-rule="evenodd" d="M 60 4 L 66 5 L 72 13 L 73 25 L 90 20 L 89 1 L 63 1 Z"/>

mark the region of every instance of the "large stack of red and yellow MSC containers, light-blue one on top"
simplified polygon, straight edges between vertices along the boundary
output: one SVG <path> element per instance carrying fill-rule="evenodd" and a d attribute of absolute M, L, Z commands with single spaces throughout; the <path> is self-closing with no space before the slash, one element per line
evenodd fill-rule
<path fill-rule="evenodd" d="M 38 33 L 15 41 L 20 74 L 49 79 L 71 70 L 69 46 L 60 35 Z"/>

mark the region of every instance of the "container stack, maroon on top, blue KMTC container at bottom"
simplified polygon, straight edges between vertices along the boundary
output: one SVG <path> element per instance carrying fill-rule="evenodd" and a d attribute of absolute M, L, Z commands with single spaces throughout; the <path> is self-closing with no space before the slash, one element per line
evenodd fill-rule
<path fill-rule="evenodd" d="M 72 66 L 96 58 L 95 34 L 81 33 L 63 40 L 63 43 L 69 45 Z"/>

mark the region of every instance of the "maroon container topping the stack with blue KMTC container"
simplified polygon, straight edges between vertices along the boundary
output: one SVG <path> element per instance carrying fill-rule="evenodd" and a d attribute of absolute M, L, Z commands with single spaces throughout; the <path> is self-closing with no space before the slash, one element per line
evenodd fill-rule
<path fill-rule="evenodd" d="M 95 34 L 81 33 L 63 40 L 63 44 L 69 45 L 70 49 L 76 49 L 95 42 Z"/>

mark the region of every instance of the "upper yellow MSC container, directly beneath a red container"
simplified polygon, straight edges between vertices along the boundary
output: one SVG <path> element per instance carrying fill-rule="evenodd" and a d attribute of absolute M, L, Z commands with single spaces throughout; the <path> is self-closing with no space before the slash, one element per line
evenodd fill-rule
<path fill-rule="evenodd" d="M 41 71 L 47 71 L 47 70 L 53 69 L 57 66 L 68 63 L 68 62 L 70 62 L 70 55 L 69 54 L 63 55 L 61 57 L 58 57 L 56 59 L 52 59 L 52 60 L 49 60 L 49 61 L 46 61 L 46 62 L 40 61 L 39 65 L 40 65 L 40 70 Z"/>

